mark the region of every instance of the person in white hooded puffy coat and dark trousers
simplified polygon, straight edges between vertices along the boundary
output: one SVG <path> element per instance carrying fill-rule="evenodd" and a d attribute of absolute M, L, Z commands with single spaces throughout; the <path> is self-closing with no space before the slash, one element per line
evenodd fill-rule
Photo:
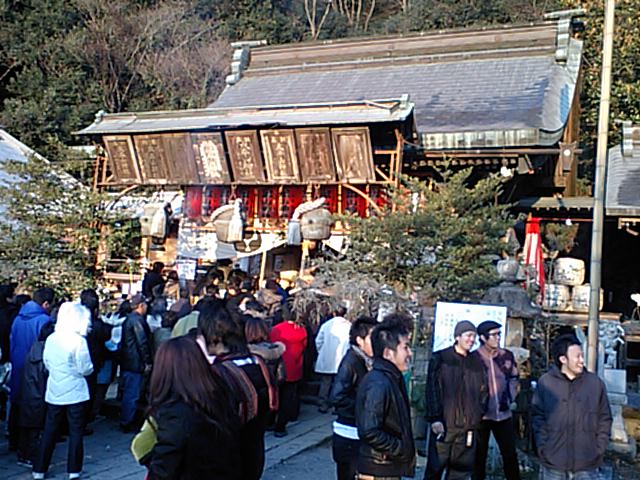
<path fill-rule="evenodd" d="M 91 313 L 86 307 L 79 303 L 63 303 L 55 331 L 45 343 L 42 359 L 49 370 L 44 397 L 47 417 L 33 466 L 36 480 L 43 479 L 49 469 L 64 417 L 69 424 L 67 472 L 69 479 L 80 478 L 84 457 L 82 430 L 89 401 L 85 377 L 93 372 L 86 340 L 90 323 Z"/>

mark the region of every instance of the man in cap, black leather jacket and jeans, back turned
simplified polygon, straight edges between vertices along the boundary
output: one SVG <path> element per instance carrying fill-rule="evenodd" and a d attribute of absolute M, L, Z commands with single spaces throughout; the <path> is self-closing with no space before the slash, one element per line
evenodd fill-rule
<path fill-rule="evenodd" d="M 142 394 L 144 376 L 151 373 L 153 353 L 151 331 L 145 320 L 147 303 L 140 294 L 131 298 L 133 311 L 122 324 L 120 342 L 120 369 L 122 388 L 122 407 L 120 427 L 124 431 L 136 431 L 135 414 L 138 400 Z"/>

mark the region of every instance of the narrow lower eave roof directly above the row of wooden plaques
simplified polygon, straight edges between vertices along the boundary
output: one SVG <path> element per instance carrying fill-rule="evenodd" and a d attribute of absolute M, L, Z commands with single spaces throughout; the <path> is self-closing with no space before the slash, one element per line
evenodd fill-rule
<path fill-rule="evenodd" d="M 407 98 L 97 115 L 78 135 L 398 122 L 413 111 Z"/>

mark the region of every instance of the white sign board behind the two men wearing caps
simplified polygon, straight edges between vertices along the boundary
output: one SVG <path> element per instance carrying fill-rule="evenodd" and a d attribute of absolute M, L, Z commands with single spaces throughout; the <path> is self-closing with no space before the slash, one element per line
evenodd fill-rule
<path fill-rule="evenodd" d="M 504 347 L 507 325 L 507 307 L 495 305 L 474 305 L 469 303 L 436 303 L 436 323 L 433 329 L 433 351 L 453 345 L 453 330 L 458 322 L 469 320 L 476 327 L 486 320 L 502 325 L 500 345 Z M 479 341 L 476 340 L 476 347 Z"/>

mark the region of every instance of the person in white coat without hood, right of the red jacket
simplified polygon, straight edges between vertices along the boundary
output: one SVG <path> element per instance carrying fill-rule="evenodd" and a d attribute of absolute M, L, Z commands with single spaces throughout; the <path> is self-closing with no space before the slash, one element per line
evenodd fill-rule
<path fill-rule="evenodd" d="M 338 372 L 338 367 L 342 358 L 349 349 L 349 331 L 351 322 L 344 318 L 347 310 L 339 307 L 334 317 L 327 320 L 320 326 L 316 336 L 316 349 L 318 359 L 316 360 L 316 373 L 320 374 L 320 407 L 321 413 L 329 411 L 329 393 L 333 379 Z"/>

